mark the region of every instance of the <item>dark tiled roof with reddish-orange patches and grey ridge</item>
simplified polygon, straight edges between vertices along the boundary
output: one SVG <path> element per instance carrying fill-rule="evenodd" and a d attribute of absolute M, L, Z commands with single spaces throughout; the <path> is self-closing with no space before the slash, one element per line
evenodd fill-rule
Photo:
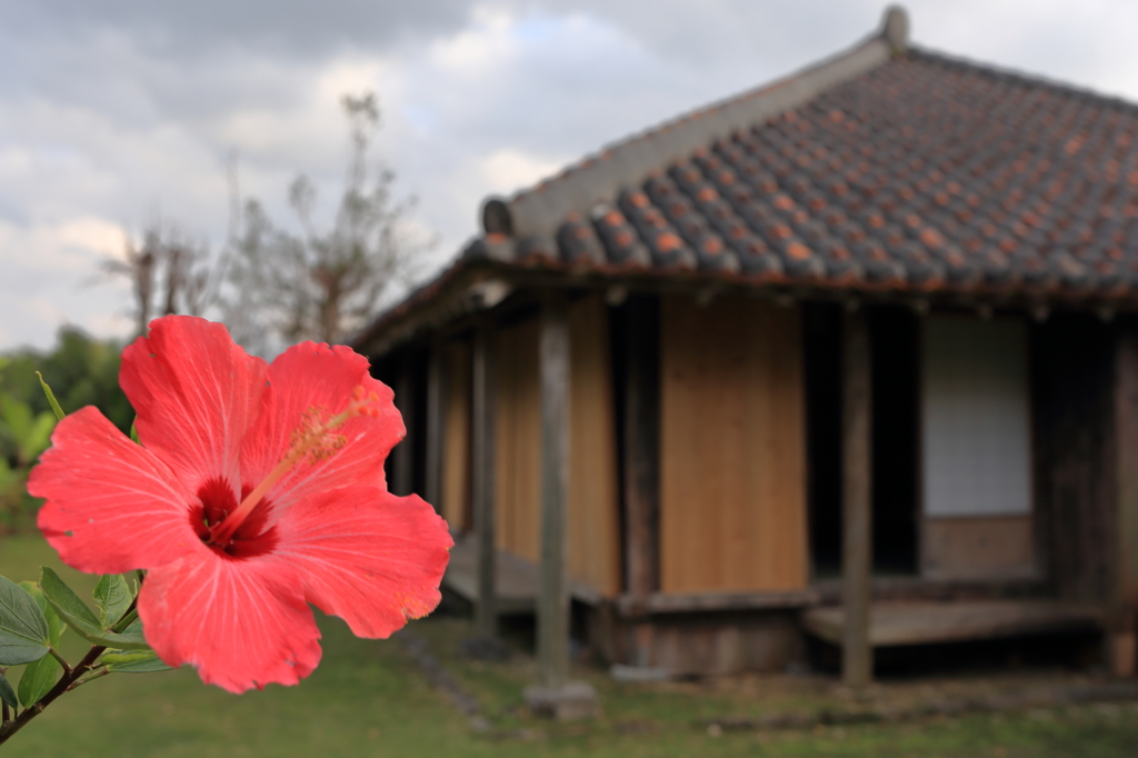
<path fill-rule="evenodd" d="M 906 35 L 890 9 L 850 51 L 492 198 L 485 233 L 366 333 L 483 259 L 1138 305 L 1138 106 Z"/>

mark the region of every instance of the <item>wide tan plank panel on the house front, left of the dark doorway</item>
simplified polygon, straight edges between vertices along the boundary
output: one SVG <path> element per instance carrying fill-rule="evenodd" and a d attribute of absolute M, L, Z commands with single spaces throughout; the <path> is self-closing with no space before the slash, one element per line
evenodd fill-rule
<path fill-rule="evenodd" d="M 661 298 L 661 590 L 805 587 L 798 307 Z"/>

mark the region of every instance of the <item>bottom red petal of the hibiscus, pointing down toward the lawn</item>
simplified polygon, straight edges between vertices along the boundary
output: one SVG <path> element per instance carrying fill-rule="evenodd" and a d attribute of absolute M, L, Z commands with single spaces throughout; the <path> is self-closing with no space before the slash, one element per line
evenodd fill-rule
<path fill-rule="evenodd" d="M 206 684 L 245 692 L 296 684 L 320 662 L 320 631 L 288 566 L 223 558 L 201 546 L 147 574 L 139 594 L 147 642 Z"/>

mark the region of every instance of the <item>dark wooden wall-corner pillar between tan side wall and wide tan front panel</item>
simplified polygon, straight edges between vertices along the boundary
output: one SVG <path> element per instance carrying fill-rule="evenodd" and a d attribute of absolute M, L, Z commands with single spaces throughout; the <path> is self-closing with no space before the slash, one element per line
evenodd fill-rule
<path fill-rule="evenodd" d="M 634 296 L 625 306 L 625 587 L 643 604 L 660 588 L 660 304 Z M 632 662 L 651 666 L 652 626 L 633 629 Z"/>

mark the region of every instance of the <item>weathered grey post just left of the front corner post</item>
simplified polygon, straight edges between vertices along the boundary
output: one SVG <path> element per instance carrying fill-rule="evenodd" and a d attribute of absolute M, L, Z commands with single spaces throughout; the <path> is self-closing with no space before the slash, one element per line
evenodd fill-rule
<path fill-rule="evenodd" d="M 490 327 L 475 331 L 472 357 L 471 423 L 471 504 L 478 539 L 478 604 L 475 632 L 479 636 L 497 634 L 495 596 L 496 552 L 494 545 L 494 346 Z"/>

